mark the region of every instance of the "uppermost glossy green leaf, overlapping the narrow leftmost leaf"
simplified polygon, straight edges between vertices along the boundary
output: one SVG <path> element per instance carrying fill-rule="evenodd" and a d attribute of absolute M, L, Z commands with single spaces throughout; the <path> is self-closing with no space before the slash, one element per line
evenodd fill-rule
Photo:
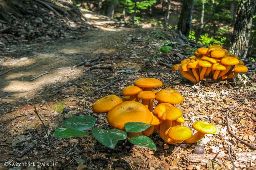
<path fill-rule="evenodd" d="M 75 130 L 87 130 L 95 125 L 96 118 L 93 116 L 75 116 L 65 119 L 61 126 Z"/>

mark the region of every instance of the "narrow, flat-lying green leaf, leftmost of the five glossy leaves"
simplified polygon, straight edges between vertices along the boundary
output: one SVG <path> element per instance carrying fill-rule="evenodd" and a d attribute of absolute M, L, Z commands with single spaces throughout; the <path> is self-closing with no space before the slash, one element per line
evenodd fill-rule
<path fill-rule="evenodd" d="M 86 137 L 89 134 L 70 128 L 59 128 L 54 131 L 53 137 L 71 138 L 71 137 Z"/>

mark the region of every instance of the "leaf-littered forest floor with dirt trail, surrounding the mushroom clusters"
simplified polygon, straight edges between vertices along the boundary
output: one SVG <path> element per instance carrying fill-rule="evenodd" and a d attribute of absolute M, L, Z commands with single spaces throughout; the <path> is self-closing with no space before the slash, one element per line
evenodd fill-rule
<path fill-rule="evenodd" d="M 239 85 L 226 80 L 206 79 L 192 84 L 170 68 L 195 50 L 184 44 L 176 31 L 116 27 L 121 24 L 90 11 L 84 13 L 97 29 L 75 39 L 24 43 L 3 51 L 1 168 L 8 169 L 5 162 L 50 163 L 53 159 L 59 165 L 57 169 L 232 169 L 233 163 L 237 169 L 256 168 L 256 151 L 227 130 L 229 126 L 243 141 L 255 145 L 256 91 L 250 88 L 256 86 L 255 70 L 246 73 L 249 83 L 245 89 L 233 89 Z M 158 52 L 158 47 L 163 46 L 160 40 L 173 46 L 166 55 Z M 76 67 L 101 53 L 101 59 L 93 64 Z M 12 68 L 15 69 L 7 72 Z M 34 113 L 34 106 L 50 135 L 65 118 L 74 115 L 94 116 L 96 127 L 110 129 L 106 114 L 95 114 L 92 104 L 106 95 L 122 96 L 122 90 L 141 77 L 157 78 L 163 82 L 163 87 L 157 90 L 173 88 L 184 96 L 185 101 L 176 106 L 183 112 L 184 126 L 192 129 L 193 122 L 203 120 L 215 124 L 217 133 L 206 135 L 193 145 L 169 145 L 155 132 L 150 137 L 157 151 L 133 146 L 128 141 L 120 141 L 116 149 L 109 149 L 92 136 L 53 138 L 54 152 L 50 153 L 46 131 Z M 102 88 L 111 82 L 114 83 Z M 197 145 L 204 146 L 203 155 L 193 154 Z M 47 166 L 30 167 L 40 168 Z"/>

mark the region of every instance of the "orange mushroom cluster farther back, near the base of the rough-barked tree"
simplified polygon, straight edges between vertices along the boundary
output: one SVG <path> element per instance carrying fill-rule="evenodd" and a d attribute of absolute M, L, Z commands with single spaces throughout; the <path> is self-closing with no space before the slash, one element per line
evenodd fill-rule
<path fill-rule="evenodd" d="M 238 73 L 248 71 L 244 62 L 239 60 L 237 55 L 231 54 L 222 46 L 215 44 L 207 48 L 198 48 L 189 59 L 184 59 L 172 67 L 173 71 L 177 71 L 177 69 L 181 75 L 193 83 L 198 83 L 204 78 L 230 79 Z"/>

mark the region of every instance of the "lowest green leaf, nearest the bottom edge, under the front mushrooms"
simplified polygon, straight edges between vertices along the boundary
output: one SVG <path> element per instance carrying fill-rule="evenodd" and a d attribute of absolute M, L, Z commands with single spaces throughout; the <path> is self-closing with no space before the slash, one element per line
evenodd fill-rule
<path fill-rule="evenodd" d="M 154 151 L 157 150 L 157 146 L 155 146 L 155 143 L 152 141 L 152 139 L 146 137 L 145 135 L 137 135 L 135 137 L 132 137 L 130 139 L 130 142 L 133 145 L 145 146 L 150 149 L 153 149 Z"/>

